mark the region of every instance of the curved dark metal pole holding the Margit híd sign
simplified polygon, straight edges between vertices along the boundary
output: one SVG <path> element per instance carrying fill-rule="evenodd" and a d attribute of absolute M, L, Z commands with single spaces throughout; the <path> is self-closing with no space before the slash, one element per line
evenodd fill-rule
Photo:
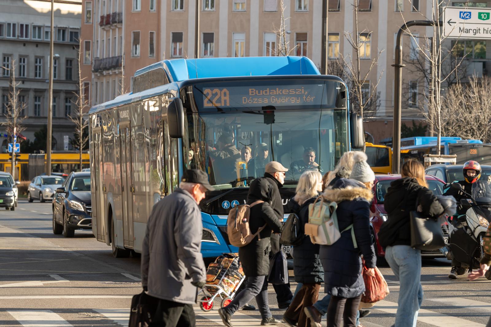
<path fill-rule="evenodd" d="M 437 22 L 439 26 L 442 22 Z M 433 21 L 410 21 L 399 28 L 396 41 L 396 58 L 392 65 L 395 71 L 394 90 L 394 128 L 392 131 L 392 174 L 399 174 L 401 170 L 401 96 L 402 96 L 402 36 L 410 26 L 435 26 Z"/>

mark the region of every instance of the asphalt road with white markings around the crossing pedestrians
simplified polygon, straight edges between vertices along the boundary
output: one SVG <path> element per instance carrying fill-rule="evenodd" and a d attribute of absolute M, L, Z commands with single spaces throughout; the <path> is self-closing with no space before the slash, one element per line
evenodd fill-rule
<path fill-rule="evenodd" d="M 0 209 L 0 326 L 127 326 L 131 297 L 141 292 L 139 258 L 114 258 L 90 230 L 76 231 L 74 238 L 54 235 L 51 203 L 21 200 L 16 211 Z M 446 259 L 423 260 L 423 267 L 425 301 L 417 326 L 486 325 L 491 281 L 450 280 Z M 380 270 L 391 293 L 361 320 L 365 327 L 394 323 L 399 284 L 390 268 Z M 272 287 L 269 303 L 280 319 L 284 311 Z M 218 304 L 207 313 L 196 305 L 197 326 L 222 326 Z M 260 315 L 238 311 L 232 322 L 259 326 Z"/>

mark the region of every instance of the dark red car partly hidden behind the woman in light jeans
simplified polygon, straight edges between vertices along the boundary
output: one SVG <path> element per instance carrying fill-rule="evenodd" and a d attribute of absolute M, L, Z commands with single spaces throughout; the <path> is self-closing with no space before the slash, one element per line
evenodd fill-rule
<path fill-rule="evenodd" d="M 373 186 L 374 198 L 370 205 L 370 227 L 372 232 L 372 241 L 374 242 L 375 252 L 377 253 L 377 265 L 384 265 L 385 263 L 385 252 L 379 243 L 378 233 L 382 223 L 387 220 L 387 212 L 383 207 L 383 198 L 385 193 L 387 193 L 390 183 L 401 178 L 401 175 L 375 175 L 375 182 Z M 426 181 L 428 182 L 428 187 L 433 191 L 435 195 L 442 195 L 443 186 L 445 183 L 435 176 L 426 175 Z M 443 237 L 445 243 L 448 242 L 449 229 L 448 225 L 441 226 L 443 231 Z M 421 251 L 421 256 L 426 258 L 444 258 L 445 256 L 439 251 Z"/>

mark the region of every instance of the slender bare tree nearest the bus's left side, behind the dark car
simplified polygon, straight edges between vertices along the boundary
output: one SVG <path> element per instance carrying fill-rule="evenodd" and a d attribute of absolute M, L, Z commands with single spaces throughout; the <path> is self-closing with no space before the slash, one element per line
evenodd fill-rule
<path fill-rule="evenodd" d="M 72 101 L 75 104 L 75 110 L 72 115 L 68 115 L 67 118 L 75 125 L 75 140 L 73 144 L 79 149 L 79 159 L 80 159 L 80 170 L 82 171 L 82 152 L 85 146 L 87 145 L 88 136 L 84 136 L 83 132 L 85 128 L 88 128 L 88 119 L 84 119 L 85 112 L 84 110 L 88 109 L 88 99 L 85 99 L 85 90 L 83 89 L 83 80 L 81 78 L 81 47 L 79 45 L 79 58 L 78 58 L 78 70 L 79 70 L 79 84 L 77 85 L 77 92 L 74 92 L 75 101 Z"/>

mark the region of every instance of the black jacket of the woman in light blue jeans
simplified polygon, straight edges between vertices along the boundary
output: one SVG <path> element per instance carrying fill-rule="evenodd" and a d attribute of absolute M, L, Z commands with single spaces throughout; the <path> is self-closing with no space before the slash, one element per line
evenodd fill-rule
<path fill-rule="evenodd" d="M 425 216 L 436 218 L 444 210 L 433 192 L 419 185 L 416 179 L 404 177 L 390 183 L 383 201 L 388 218 L 379 231 L 383 247 L 411 245 L 409 216 L 411 211 L 416 210 L 416 203 L 421 204 Z"/>

